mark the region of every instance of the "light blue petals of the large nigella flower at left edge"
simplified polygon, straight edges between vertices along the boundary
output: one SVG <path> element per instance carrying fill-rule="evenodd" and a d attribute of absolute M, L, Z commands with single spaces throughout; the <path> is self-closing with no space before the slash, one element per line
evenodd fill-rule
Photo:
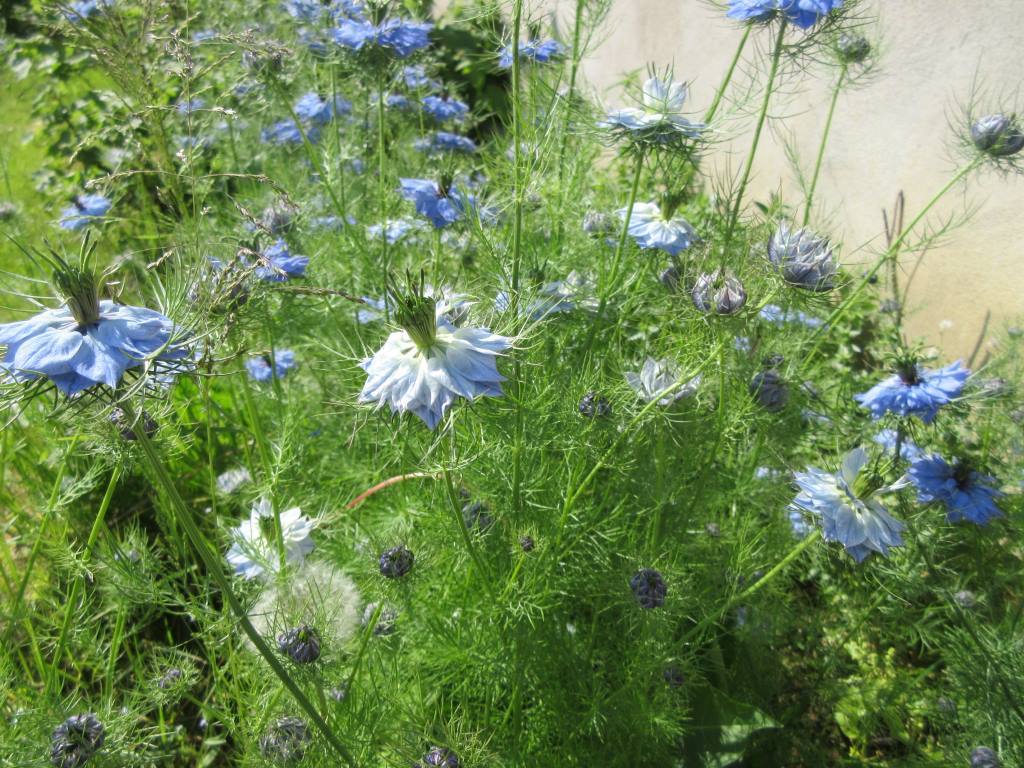
<path fill-rule="evenodd" d="M 189 356 L 184 333 L 158 311 L 100 301 L 93 316 L 80 323 L 65 305 L 0 325 L 0 370 L 19 382 L 46 377 L 73 395 L 97 384 L 116 387 L 129 369 Z"/>

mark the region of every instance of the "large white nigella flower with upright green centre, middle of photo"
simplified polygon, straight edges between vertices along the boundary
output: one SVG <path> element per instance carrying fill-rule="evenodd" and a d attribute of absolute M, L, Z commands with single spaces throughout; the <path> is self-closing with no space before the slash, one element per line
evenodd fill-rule
<path fill-rule="evenodd" d="M 361 364 L 367 383 L 359 402 L 416 414 L 434 429 L 459 397 L 501 397 L 505 377 L 497 360 L 512 340 L 485 328 L 456 327 L 445 316 L 449 306 L 424 295 L 422 285 L 410 293 L 393 297 L 400 330 Z"/>

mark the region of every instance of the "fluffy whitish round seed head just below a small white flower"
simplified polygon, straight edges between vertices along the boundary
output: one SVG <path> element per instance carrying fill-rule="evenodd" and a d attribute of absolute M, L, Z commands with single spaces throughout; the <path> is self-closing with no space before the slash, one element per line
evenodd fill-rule
<path fill-rule="evenodd" d="M 249 620 L 263 637 L 309 625 L 325 641 L 338 647 L 359 627 L 361 598 L 355 583 L 343 571 L 307 560 L 274 579 L 249 611 Z"/>

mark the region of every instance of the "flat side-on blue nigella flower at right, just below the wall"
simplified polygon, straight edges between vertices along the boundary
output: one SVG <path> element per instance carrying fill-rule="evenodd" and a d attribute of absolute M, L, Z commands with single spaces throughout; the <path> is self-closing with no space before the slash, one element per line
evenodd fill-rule
<path fill-rule="evenodd" d="M 964 391 L 971 372 L 956 360 L 937 371 L 926 371 L 913 362 L 901 364 L 897 372 L 853 398 L 881 419 L 886 414 L 916 416 L 931 424 L 939 409 Z"/>

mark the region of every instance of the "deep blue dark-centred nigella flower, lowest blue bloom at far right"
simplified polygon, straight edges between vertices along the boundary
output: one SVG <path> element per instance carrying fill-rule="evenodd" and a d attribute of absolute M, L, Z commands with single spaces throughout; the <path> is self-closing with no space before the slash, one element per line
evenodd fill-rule
<path fill-rule="evenodd" d="M 942 502 L 949 522 L 970 520 L 984 525 L 993 517 L 1002 516 L 995 503 L 1002 492 L 987 484 L 995 482 L 995 478 L 974 471 L 967 462 L 949 464 L 932 454 L 913 462 L 907 474 L 918 488 L 918 501 Z"/>

